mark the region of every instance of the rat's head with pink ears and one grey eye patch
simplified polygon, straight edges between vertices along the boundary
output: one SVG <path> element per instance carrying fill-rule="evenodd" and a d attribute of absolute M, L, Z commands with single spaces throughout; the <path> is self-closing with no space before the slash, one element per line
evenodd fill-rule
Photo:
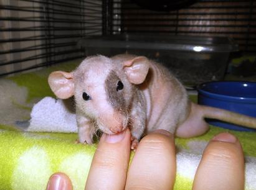
<path fill-rule="evenodd" d="M 122 61 L 98 55 L 86 58 L 71 73 L 51 73 L 49 84 L 60 99 L 74 95 L 77 112 L 113 134 L 126 129 L 135 84 L 145 81 L 148 70 L 145 57 Z"/>

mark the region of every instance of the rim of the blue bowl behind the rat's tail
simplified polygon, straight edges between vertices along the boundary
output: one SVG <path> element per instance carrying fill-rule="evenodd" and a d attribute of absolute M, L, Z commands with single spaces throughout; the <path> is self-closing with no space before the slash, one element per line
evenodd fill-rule
<path fill-rule="evenodd" d="M 223 95 L 223 94 L 217 94 L 217 93 L 210 93 L 209 91 L 206 91 L 202 89 L 202 86 L 205 86 L 207 84 L 212 83 L 250 83 L 254 84 L 256 86 L 256 82 L 252 81 L 209 81 L 206 83 L 201 83 L 196 86 L 196 89 L 199 94 L 202 94 L 204 96 L 208 96 L 215 99 L 225 100 L 225 101 L 235 101 L 235 102 L 254 102 L 256 104 L 256 96 L 255 97 L 242 97 L 242 96 L 229 96 L 229 95 Z"/>

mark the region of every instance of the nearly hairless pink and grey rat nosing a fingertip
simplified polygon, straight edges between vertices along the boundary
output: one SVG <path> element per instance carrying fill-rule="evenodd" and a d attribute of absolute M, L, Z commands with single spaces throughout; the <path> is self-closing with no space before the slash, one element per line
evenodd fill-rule
<path fill-rule="evenodd" d="M 146 57 L 87 57 L 74 71 L 54 71 L 49 85 L 60 99 L 75 97 L 78 137 L 93 143 L 93 133 L 108 134 L 130 127 L 131 148 L 156 129 L 178 137 L 205 133 L 204 118 L 256 128 L 256 118 L 201 106 L 189 101 L 183 84 L 163 65 Z"/>

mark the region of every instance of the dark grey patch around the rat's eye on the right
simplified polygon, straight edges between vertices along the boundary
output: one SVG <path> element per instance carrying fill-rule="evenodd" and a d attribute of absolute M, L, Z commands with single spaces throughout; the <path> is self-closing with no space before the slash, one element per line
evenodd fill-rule
<path fill-rule="evenodd" d="M 124 89 L 116 91 L 116 86 L 120 78 L 116 75 L 115 71 L 110 71 L 105 81 L 105 89 L 107 92 L 108 101 L 115 109 L 125 110 L 125 94 Z"/>

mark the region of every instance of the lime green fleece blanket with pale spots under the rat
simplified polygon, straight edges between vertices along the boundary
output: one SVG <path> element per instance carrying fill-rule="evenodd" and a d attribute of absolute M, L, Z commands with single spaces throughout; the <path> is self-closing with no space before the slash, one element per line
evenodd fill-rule
<path fill-rule="evenodd" d="M 94 145 L 76 144 L 76 133 L 25 132 L 31 109 L 54 94 L 47 84 L 50 71 L 70 71 L 80 60 L 32 73 L 0 79 L 0 189 L 45 189 L 51 174 L 69 175 L 74 189 L 84 189 Z M 195 98 L 195 97 L 192 97 Z M 197 138 L 176 138 L 175 189 L 191 189 L 202 151 L 209 139 L 227 130 L 211 127 Z M 256 189 L 256 133 L 234 132 L 245 153 L 245 189 Z"/>

